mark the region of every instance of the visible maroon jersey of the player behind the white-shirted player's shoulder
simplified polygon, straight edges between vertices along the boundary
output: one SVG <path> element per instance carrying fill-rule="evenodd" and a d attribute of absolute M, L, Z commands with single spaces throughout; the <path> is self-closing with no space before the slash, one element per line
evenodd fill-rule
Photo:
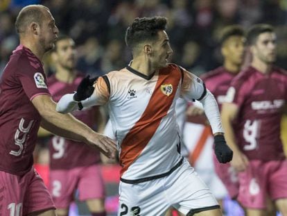
<path fill-rule="evenodd" d="M 236 74 L 227 71 L 225 67 L 218 67 L 207 74 L 200 76 L 205 82 L 207 89 L 214 94 L 218 107 L 221 110 L 222 103 L 225 101 L 226 92 L 232 79 Z"/>

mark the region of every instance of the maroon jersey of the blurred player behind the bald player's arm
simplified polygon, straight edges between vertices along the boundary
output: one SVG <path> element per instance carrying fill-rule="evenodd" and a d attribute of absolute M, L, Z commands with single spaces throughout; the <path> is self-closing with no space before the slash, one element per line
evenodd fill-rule
<path fill-rule="evenodd" d="M 59 101 L 64 94 L 69 94 L 77 89 L 83 76 L 76 76 L 73 83 L 62 83 L 55 76 L 48 78 L 49 90 L 54 101 Z M 73 116 L 84 122 L 89 127 L 95 126 L 96 107 L 73 112 Z M 59 136 L 54 136 L 49 142 L 50 167 L 51 169 L 71 169 L 73 167 L 83 167 L 94 165 L 100 160 L 99 152 L 87 146 L 83 142 L 66 140 Z"/>

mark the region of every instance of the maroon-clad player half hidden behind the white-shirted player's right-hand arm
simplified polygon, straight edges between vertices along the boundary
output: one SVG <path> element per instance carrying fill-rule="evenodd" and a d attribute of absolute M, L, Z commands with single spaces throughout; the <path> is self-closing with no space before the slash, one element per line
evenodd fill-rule
<path fill-rule="evenodd" d="M 219 108 L 225 100 L 225 94 L 232 78 L 238 74 L 243 63 L 245 35 L 241 26 L 227 26 L 220 39 L 223 66 L 201 76 L 209 90 L 214 94 Z M 214 160 L 216 174 L 223 181 L 229 196 L 236 199 L 238 195 L 238 178 L 229 163 L 220 164 Z"/>

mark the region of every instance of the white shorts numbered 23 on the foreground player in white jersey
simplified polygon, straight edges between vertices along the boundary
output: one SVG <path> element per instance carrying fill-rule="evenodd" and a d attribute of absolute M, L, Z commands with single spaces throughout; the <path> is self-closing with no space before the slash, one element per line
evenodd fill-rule
<path fill-rule="evenodd" d="M 180 167 L 163 178 L 136 184 L 120 182 L 119 216 L 165 215 L 171 206 L 184 215 L 220 208 L 207 185 L 185 159 Z"/>

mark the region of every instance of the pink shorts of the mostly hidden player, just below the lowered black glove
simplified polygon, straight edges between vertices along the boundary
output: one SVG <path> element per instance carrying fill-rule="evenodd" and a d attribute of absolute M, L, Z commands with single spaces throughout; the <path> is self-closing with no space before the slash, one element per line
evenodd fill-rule
<path fill-rule="evenodd" d="M 239 192 L 239 181 L 234 168 L 230 163 L 219 163 L 214 154 L 214 169 L 220 180 L 223 182 L 223 185 L 225 185 L 229 197 L 236 199 Z"/>

